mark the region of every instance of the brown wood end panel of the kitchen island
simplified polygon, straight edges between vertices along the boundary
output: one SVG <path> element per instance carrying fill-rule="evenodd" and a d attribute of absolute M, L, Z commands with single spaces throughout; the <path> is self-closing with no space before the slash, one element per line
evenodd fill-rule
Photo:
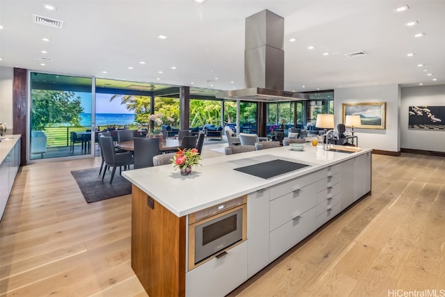
<path fill-rule="evenodd" d="M 185 296 L 186 217 L 178 218 L 133 185 L 131 268 L 150 297 Z"/>

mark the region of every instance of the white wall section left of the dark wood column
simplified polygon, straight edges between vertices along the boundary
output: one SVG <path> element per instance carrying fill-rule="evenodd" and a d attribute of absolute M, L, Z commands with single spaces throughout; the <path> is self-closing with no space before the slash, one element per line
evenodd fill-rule
<path fill-rule="evenodd" d="M 13 77 L 13 68 L 0 67 L 0 122 L 8 128 L 6 134 L 13 134 Z"/>

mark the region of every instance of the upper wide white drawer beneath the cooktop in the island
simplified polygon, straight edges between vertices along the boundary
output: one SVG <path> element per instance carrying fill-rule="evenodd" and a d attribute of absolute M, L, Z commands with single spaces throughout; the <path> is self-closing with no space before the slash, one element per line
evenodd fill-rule
<path fill-rule="evenodd" d="M 270 201 L 270 228 L 289 222 L 293 218 L 316 206 L 316 185 L 309 184 L 295 192 L 286 194 L 278 199 Z"/>

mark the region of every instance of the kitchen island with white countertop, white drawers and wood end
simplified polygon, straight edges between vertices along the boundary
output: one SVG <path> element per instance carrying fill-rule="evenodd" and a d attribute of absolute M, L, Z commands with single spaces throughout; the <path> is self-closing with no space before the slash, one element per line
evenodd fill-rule
<path fill-rule="evenodd" d="M 192 175 L 170 165 L 122 172 L 133 183 L 131 266 L 149 296 L 225 296 L 371 192 L 371 150 L 289 147 L 202 160 Z M 234 170 L 291 161 L 305 167 L 264 179 Z M 261 166 L 260 166 L 261 167 Z M 195 264 L 191 218 L 247 198 L 245 236 Z"/>

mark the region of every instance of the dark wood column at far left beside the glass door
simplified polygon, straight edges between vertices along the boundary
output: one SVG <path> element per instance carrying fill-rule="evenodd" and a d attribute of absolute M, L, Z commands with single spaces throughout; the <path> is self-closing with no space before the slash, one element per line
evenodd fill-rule
<path fill-rule="evenodd" d="M 28 94 L 26 87 L 27 70 L 14 68 L 13 78 L 13 134 L 21 134 L 20 166 L 26 165 L 26 138 L 28 127 L 26 126 L 26 114 L 28 113 Z"/>

